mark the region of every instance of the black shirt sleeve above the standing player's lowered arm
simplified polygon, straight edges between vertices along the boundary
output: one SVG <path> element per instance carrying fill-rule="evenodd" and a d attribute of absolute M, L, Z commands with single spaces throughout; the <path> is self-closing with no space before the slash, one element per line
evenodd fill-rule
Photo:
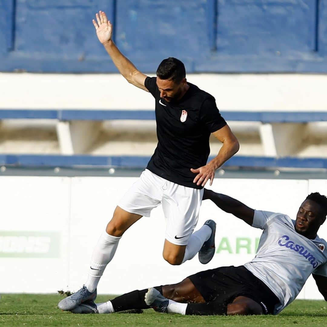
<path fill-rule="evenodd" d="M 225 119 L 221 116 L 214 98 L 205 99 L 201 106 L 200 120 L 210 133 L 221 129 L 226 125 Z"/>

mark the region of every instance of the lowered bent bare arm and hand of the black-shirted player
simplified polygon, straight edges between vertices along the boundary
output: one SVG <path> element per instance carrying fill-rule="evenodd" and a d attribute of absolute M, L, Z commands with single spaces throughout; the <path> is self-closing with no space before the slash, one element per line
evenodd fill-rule
<path fill-rule="evenodd" d="M 194 178 L 193 183 L 204 186 L 208 180 L 210 185 L 215 177 L 215 171 L 228 159 L 230 159 L 240 148 L 236 136 L 232 130 L 226 124 L 221 129 L 213 132 L 215 138 L 218 139 L 223 146 L 220 148 L 217 156 L 208 162 L 205 166 L 199 167 L 198 169 L 191 168 L 192 173 L 197 174 Z"/>

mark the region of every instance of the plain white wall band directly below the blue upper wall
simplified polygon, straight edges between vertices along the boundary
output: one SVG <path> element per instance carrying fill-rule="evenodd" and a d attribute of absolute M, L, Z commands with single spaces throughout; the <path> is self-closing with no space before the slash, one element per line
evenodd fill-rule
<path fill-rule="evenodd" d="M 149 74 L 153 76 L 154 74 Z M 326 111 L 327 75 L 190 74 L 220 110 Z M 0 73 L 0 109 L 153 109 L 119 74 Z"/>

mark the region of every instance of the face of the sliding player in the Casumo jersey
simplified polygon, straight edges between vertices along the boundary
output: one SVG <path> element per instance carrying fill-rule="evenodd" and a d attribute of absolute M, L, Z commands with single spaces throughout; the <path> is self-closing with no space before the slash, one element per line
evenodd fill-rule
<path fill-rule="evenodd" d="M 295 230 L 303 236 L 314 237 L 323 222 L 320 205 L 315 201 L 305 200 L 296 215 Z"/>

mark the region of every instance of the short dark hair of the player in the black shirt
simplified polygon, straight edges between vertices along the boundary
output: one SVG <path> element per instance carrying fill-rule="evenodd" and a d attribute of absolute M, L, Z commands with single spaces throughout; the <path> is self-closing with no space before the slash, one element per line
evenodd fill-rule
<path fill-rule="evenodd" d="M 170 79 L 180 83 L 186 76 L 185 66 L 181 60 L 169 57 L 160 63 L 157 69 L 157 76 L 161 79 Z"/>

